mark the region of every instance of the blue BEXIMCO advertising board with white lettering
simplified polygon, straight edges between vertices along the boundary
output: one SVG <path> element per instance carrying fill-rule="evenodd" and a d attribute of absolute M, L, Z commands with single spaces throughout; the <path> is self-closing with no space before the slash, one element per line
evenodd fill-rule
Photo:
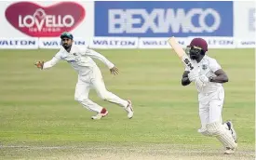
<path fill-rule="evenodd" d="M 233 2 L 96 1 L 95 36 L 233 36 Z"/>

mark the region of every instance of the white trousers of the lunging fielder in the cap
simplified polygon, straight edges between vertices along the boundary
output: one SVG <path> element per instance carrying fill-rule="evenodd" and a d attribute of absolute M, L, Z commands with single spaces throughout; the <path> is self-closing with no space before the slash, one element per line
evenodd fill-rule
<path fill-rule="evenodd" d="M 74 100 L 80 102 L 89 111 L 101 113 L 102 107 L 88 99 L 88 93 L 90 88 L 94 88 L 101 98 L 101 100 L 107 100 L 118 104 L 121 107 L 127 107 L 128 101 L 122 100 L 115 94 L 109 92 L 104 84 L 101 71 L 98 66 L 93 69 L 87 75 L 78 75 L 78 81 L 75 87 Z"/>

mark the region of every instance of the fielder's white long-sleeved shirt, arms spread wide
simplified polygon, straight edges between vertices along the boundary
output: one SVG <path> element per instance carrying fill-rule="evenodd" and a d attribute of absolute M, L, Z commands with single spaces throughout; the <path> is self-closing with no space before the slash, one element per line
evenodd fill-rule
<path fill-rule="evenodd" d="M 90 73 L 93 68 L 98 67 L 95 61 L 91 58 L 101 60 L 109 69 L 115 66 L 111 61 L 92 49 L 79 48 L 72 45 L 70 52 L 67 52 L 64 47 L 61 47 L 60 51 L 52 58 L 52 60 L 45 62 L 43 69 L 54 66 L 60 60 L 65 60 L 71 64 L 79 75 L 83 76 Z"/>

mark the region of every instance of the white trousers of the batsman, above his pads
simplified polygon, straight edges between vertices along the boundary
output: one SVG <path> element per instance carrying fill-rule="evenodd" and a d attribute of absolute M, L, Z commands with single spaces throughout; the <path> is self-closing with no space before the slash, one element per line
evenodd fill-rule
<path fill-rule="evenodd" d="M 224 89 L 221 88 L 214 96 L 207 100 L 199 100 L 199 116 L 202 128 L 214 122 L 222 123 L 222 107 L 224 101 Z"/>

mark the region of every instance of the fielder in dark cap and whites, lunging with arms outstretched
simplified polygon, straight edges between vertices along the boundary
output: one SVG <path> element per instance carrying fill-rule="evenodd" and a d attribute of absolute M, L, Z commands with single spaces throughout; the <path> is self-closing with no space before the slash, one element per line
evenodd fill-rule
<path fill-rule="evenodd" d="M 80 102 L 89 111 L 97 113 L 95 116 L 91 117 L 92 119 L 101 119 L 101 117 L 108 114 L 108 111 L 97 103 L 88 99 L 90 88 L 94 88 L 102 100 L 107 100 L 123 107 L 128 113 L 128 118 L 132 118 L 133 109 L 131 106 L 131 101 L 122 100 L 106 89 L 101 71 L 91 58 L 101 60 L 106 66 L 108 66 L 110 72 L 113 74 L 117 74 L 119 72 L 115 65 L 100 53 L 88 48 L 79 48 L 75 46 L 73 42 L 73 35 L 71 33 L 62 33 L 62 46 L 60 51 L 52 58 L 52 60 L 48 60 L 47 62 L 37 61 L 35 65 L 37 68 L 45 70 L 53 67 L 60 60 L 66 60 L 68 63 L 70 63 L 74 70 L 78 73 L 74 100 Z"/>

